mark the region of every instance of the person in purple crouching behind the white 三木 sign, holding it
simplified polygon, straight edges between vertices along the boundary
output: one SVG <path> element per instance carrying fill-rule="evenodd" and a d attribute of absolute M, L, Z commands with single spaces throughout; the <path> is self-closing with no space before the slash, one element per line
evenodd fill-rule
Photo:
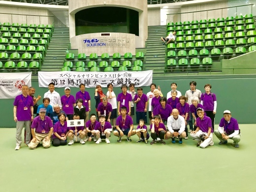
<path fill-rule="evenodd" d="M 74 114 L 73 116 L 74 120 L 79 120 L 80 117 L 78 114 Z M 84 132 L 84 126 L 79 126 L 79 127 L 68 127 L 68 139 L 69 143 L 67 145 L 73 145 L 74 144 L 74 138 L 76 141 L 80 140 L 80 144 L 84 145 L 85 141 L 85 132 Z"/>

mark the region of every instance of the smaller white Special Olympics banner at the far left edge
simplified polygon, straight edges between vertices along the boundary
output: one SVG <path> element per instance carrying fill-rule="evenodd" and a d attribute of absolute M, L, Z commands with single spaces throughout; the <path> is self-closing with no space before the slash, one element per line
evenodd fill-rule
<path fill-rule="evenodd" d="M 0 75 L 0 98 L 15 98 L 21 95 L 21 87 L 31 87 L 32 72 L 1 73 Z"/>

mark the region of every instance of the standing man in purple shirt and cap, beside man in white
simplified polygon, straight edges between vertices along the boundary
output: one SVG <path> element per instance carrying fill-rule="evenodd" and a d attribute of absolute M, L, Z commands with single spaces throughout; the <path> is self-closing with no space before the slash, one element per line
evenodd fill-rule
<path fill-rule="evenodd" d="M 74 106 L 76 105 L 75 97 L 70 95 L 70 88 L 65 87 L 65 95 L 61 97 L 62 110 L 66 113 L 68 120 L 73 119 Z"/>

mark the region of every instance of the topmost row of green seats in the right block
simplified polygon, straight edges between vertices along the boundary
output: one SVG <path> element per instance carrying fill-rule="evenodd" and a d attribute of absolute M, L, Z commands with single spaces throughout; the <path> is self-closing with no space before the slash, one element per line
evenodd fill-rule
<path fill-rule="evenodd" d="M 243 17 L 242 15 L 237 15 L 235 18 L 234 17 L 226 17 L 226 19 L 224 19 L 223 17 L 218 18 L 217 20 L 215 19 L 209 19 L 208 22 L 206 19 L 202 19 L 199 22 L 197 20 L 193 20 L 192 22 L 190 21 L 184 21 L 182 22 L 176 22 L 175 24 L 173 22 L 170 22 L 167 24 L 167 26 L 187 26 L 187 25 L 194 25 L 194 24 L 206 24 L 206 23 L 220 23 L 220 22 L 224 22 L 224 21 L 237 21 L 237 20 L 247 20 L 247 19 L 253 19 L 253 15 L 252 14 L 247 14 L 245 15 L 245 17 Z"/>

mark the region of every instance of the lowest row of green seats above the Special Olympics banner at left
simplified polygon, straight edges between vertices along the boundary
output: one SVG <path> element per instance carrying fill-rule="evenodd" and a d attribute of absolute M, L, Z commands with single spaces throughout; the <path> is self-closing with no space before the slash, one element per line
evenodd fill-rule
<path fill-rule="evenodd" d="M 29 65 L 25 61 L 19 62 L 17 65 L 13 61 L 8 61 L 4 65 L 0 61 L 0 68 L 4 69 L 39 69 L 39 63 L 37 61 L 32 61 Z"/>

